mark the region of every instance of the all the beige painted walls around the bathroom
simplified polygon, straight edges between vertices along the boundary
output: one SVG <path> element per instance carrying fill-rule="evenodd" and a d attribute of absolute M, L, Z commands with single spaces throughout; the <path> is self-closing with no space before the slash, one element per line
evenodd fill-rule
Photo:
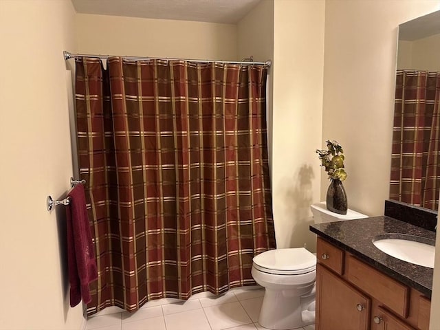
<path fill-rule="evenodd" d="M 238 25 L 221 25 L 75 14 L 68 0 L 0 1 L 7 50 L 0 61 L 0 251 L 8 270 L 0 275 L 0 329 L 78 329 L 82 321 L 62 280 L 57 222 L 64 210 L 45 209 L 45 197 L 62 197 L 72 175 L 63 50 L 272 58 L 276 239 L 278 248 L 307 243 L 314 250 L 309 205 L 329 184 L 315 149 L 338 140 L 347 155 L 349 206 L 383 214 L 397 25 L 439 8 L 439 0 L 263 0 Z M 439 246 L 432 311 L 440 308 Z M 431 317 L 440 324 L 440 315 Z"/>

